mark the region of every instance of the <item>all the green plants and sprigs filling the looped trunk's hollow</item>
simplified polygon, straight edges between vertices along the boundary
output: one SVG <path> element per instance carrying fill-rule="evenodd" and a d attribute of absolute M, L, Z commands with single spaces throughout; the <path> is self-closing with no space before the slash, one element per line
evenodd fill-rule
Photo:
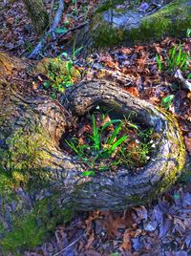
<path fill-rule="evenodd" d="M 137 134 L 138 139 L 129 138 L 128 133 L 132 131 Z M 87 166 L 82 176 L 95 176 L 96 171 L 115 169 L 118 165 L 138 167 L 139 164 L 146 163 L 152 147 L 148 141 L 151 134 L 150 130 L 140 132 L 136 124 L 127 122 L 126 119 L 112 119 L 98 127 L 96 118 L 92 115 L 92 133 L 87 135 L 85 141 L 81 144 L 74 136 L 70 141 L 65 139 L 65 142 Z"/>

